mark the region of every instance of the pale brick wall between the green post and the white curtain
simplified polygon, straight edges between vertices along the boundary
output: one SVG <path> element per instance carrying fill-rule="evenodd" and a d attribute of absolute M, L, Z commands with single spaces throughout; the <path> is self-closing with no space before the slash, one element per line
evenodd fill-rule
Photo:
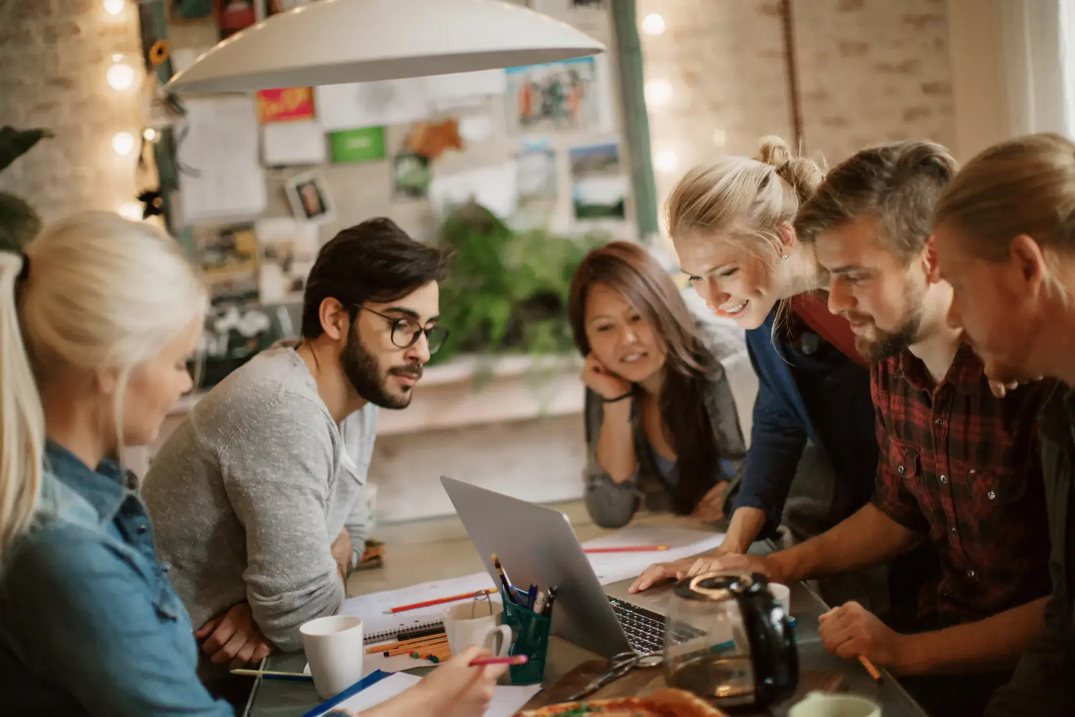
<path fill-rule="evenodd" d="M 792 1 L 808 152 L 834 163 L 878 141 L 955 143 L 945 0 Z M 789 138 L 790 106 L 777 0 L 639 0 L 640 23 L 648 13 L 666 29 L 642 37 L 646 81 L 674 90 L 649 107 L 655 156 L 679 160 L 658 171 L 663 201 L 689 167 Z"/>

